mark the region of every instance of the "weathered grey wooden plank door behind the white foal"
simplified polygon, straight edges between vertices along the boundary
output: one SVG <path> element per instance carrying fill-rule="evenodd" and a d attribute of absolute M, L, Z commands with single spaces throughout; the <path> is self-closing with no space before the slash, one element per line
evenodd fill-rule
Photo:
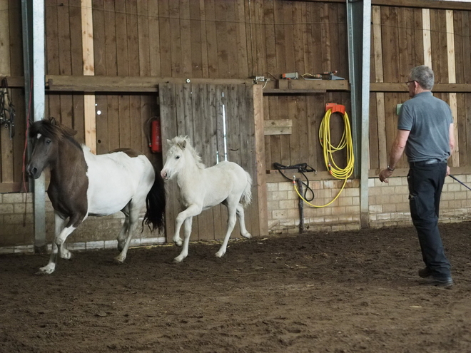
<path fill-rule="evenodd" d="M 255 105 L 258 105 L 256 101 Z M 262 120 L 263 116 L 256 114 L 254 109 L 253 86 L 162 83 L 159 85 L 159 104 L 163 163 L 168 150 L 167 139 L 188 135 L 206 167 L 226 158 L 241 165 L 253 179 L 252 203 L 245 208 L 245 225 L 254 236 L 268 234 L 265 180 L 260 183 L 263 177 L 258 176 L 264 175 L 265 167 L 257 160 L 255 148 L 257 134 L 262 134 L 263 141 L 263 131 L 255 132 L 255 116 Z M 181 206 L 176 181 L 168 180 L 166 188 L 166 237 L 170 242 Z M 191 240 L 222 239 L 226 234 L 227 216 L 223 205 L 203 211 L 193 218 Z M 238 222 L 232 237 L 240 237 Z"/>

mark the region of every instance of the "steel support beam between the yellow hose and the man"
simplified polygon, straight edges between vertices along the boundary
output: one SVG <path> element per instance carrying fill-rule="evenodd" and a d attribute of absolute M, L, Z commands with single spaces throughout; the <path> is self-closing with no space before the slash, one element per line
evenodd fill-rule
<path fill-rule="evenodd" d="M 370 224 L 368 170 L 370 160 L 370 31 L 371 0 L 346 0 L 348 68 L 352 101 L 355 178 L 360 178 L 360 227 Z M 361 48 L 361 49 L 360 49 Z"/>

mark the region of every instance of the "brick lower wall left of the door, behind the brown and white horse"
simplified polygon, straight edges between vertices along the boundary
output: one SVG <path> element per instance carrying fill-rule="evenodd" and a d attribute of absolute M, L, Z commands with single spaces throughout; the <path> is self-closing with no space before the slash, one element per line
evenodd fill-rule
<path fill-rule="evenodd" d="M 26 213 L 25 213 L 26 210 Z M 131 246 L 151 245 L 165 242 L 158 231 L 151 232 L 141 222 L 145 208 L 141 211 L 138 234 Z M 124 215 L 115 213 L 106 217 L 89 216 L 66 240 L 70 250 L 116 248 Z M 46 195 L 46 239 L 54 240 L 54 210 Z M 50 245 L 49 245 L 50 250 Z M 34 216 L 32 193 L 0 194 L 0 253 L 34 251 Z"/>

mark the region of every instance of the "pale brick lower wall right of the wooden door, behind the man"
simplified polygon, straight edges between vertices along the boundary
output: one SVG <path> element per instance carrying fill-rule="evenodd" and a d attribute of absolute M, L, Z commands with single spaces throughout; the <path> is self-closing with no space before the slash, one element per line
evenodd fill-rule
<path fill-rule="evenodd" d="M 471 185 L 471 175 L 455 175 Z M 310 203 L 325 205 L 335 198 L 342 180 L 310 182 L 315 198 Z M 334 232 L 360 229 L 360 182 L 348 180 L 340 196 L 323 208 L 303 205 L 305 230 Z M 390 178 L 389 184 L 378 178 L 368 180 L 370 227 L 412 225 L 407 178 Z M 267 184 L 268 229 L 273 233 L 298 232 L 300 213 L 298 195 L 288 181 Z M 460 222 L 471 218 L 471 191 L 452 178 L 446 178 L 440 203 L 440 222 Z"/>

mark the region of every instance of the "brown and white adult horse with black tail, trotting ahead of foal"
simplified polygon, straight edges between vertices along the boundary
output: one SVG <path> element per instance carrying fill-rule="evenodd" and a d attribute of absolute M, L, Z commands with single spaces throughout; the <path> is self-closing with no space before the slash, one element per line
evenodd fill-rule
<path fill-rule="evenodd" d="M 142 225 L 163 229 L 165 189 L 161 175 L 152 163 L 136 150 L 120 149 L 94 155 L 74 138 L 76 131 L 62 126 L 54 118 L 36 121 L 29 129 L 34 150 L 27 171 L 39 178 L 49 166 L 51 181 L 47 193 L 54 208 L 55 238 L 49 263 L 42 273 L 54 272 L 57 255 L 70 259 L 64 247 L 67 237 L 88 215 L 111 215 L 121 210 L 126 216 L 118 235 L 118 262 L 126 259 L 129 243 L 146 205 Z"/>

